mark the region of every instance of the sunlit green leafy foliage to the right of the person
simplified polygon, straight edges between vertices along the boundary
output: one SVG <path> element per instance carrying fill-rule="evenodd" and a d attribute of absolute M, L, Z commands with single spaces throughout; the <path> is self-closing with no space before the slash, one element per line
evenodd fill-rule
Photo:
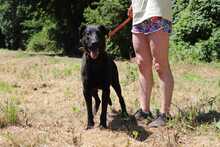
<path fill-rule="evenodd" d="M 180 61 L 220 60 L 220 1 L 179 0 L 175 4 L 171 57 Z"/>

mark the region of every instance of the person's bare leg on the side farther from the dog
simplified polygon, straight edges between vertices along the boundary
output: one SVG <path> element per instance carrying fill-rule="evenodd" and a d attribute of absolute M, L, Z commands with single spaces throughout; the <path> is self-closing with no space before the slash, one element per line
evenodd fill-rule
<path fill-rule="evenodd" d="M 153 64 L 161 81 L 162 102 L 161 113 L 169 113 L 174 80 L 169 65 L 169 34 L 163 30 L 151 33 L 149 44 L 153 56 Z"/>

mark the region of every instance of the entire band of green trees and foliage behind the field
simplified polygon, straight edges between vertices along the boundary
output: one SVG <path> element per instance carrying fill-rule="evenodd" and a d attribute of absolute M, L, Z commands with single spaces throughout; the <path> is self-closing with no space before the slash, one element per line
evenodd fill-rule
<path fill-rule="evenodd" d="M 219 61 L 220 1 L 172 2 L 171 58 Z M 67 55 L 78 54 L 78 27 L 83 20 L 113 29 L 127 18 L 129 5 L 126 0 L 0 0 L 0 48 L 49 52 L 62 52 L 63 48 Z M 107 52 L 113 57 L 129 58 L 133 52 L 130 30 L 127 25 L 107 40 Z"/>

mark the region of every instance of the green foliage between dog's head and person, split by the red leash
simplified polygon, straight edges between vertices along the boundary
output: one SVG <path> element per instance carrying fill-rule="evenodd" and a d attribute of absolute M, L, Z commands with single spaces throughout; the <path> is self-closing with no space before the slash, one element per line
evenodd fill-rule
<path fill-rule="evenodd" d="M 102 24 L 114 28 L 127 18 L 129 2 L 126 0 L 100 0 L 92 3 L 84 12 L 86 23 Z M 131 33 L 125 27 L 112 40 L 107 41 L 107 52 L 113 57 L 128 58 L 131 52 Z"/>

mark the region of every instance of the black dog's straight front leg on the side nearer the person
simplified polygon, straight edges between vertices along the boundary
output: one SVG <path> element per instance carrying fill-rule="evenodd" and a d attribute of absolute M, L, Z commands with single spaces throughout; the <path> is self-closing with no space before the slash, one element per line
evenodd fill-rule
<path fill-rule="evenodd" d="M 102 91 L 102 112 L 100 116 L 100 127 L 107 128 L 106 120 L 107 120 L 107 109 L 108 109 L 108 101 L 110 99 L 110 89 L 106 88 Z"/>

